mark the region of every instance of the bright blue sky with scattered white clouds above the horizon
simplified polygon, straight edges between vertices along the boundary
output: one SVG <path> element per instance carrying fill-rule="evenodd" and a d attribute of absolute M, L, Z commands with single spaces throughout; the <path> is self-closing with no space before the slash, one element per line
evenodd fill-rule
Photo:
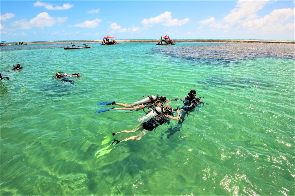
<path fill-rule="evenodd" d="M 292 39 L 294 1 L 0 1 L 0 39 Z"/>

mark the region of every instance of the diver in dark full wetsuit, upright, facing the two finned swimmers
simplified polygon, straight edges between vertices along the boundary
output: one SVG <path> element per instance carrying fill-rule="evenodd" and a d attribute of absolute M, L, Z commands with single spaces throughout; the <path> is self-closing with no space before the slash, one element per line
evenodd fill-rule
<path fill-rule="evenodd" d="M 188 116 L 189 113 L 193 112 L 199 103 L 206 104 L 206 103 L 202 102 L 203 100 L 205 100 L 204 97 L 199 97 L 199 98 L 196 97 L 195 90 L 191 90 L 188 95 L 189 96 L 182 98 L 182 99 L 172 99 L 172 100 L 181 100 L 184 105 L 180 109 L 176 108 L 176 109 L 178 109 L 179 112 L 181 112 L 181 111 L 183 111 L 183 112 L 181 112 L 182 115 L 181 115 L 181 118 L 180 118 L 178 124 L 173 129 L 165 131 L 165 133 L 168 133 L 167 139 L 169 139 L 169 137 L 172 136 L 173 134 L 175 134 L 176 132 L 180 131 L 180 129 L 182 127 L 182 123 L 184 122 L 185 116 Z M 203 98 L 203 100 L 201 100 L 201 98 Z M 162 136 L 163 136 L 163 134 L 162 134 Z"/>

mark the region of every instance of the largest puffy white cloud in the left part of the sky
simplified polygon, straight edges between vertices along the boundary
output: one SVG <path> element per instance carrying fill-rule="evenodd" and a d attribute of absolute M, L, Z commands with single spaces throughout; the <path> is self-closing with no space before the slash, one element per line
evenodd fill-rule
<path fill-rule="evenodd" d="M 49 16 L 47 12 L 42 12 L 30 21 L 27 21 L 27 19 L 21 19 L 12 22 L 12 24 L 10 25 L 18 29 L 31 29 L 33 27 L 43 28 L 45 26 L 53 26 L 56 22 L 62 23 L 66 20 L 66 16 L 63 18 L 58 17 L 57 19 L 55 19 L 54 17 Z"/>

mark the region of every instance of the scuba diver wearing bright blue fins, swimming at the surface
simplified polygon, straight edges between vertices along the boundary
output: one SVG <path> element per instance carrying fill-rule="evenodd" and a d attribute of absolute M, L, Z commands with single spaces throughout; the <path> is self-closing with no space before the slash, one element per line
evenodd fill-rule
<path fill-rule="evenodd" d="M 146 97 L 146 98 L 144 98 Z M 97 105 L 119 105 L 123 106 L 124 108 L 117 108 L 117 107 L 112 107 L 108 109 L 102 109 L 99 111 L 96 111 L 94 113 L 100 113 L 100 112 L 106 112 L 111 109 L 120 109 L 120 110 L 140 110 L 144 109 L 146 107 L 155 107 L 158 106 L 159 103 L 165 103 L 166 102 L 166 97 L 161 96 L 157 94 L 157 96 L 154 95 L 145 95 L 142 97 L 142 100 L 134 102 L 133 104 L 128 105 L 127 103 L 116 103 L 116 102 L 103 102 L 103 103 L 98 103 Z"/>

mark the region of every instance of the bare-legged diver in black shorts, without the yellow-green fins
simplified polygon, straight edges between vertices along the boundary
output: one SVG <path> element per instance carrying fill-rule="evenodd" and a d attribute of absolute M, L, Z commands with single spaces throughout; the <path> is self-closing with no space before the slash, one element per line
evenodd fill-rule
<path fill-rule="evenodd" d="M 173 116 L 173 109 L 171 106 L 162 107 L 162 109 L 160 107 L 155 107 L 153 110 L 150 110 L 147 114 L 147 116 L 151 117 L 150 112 L 157 113 L 158 115 L 156 115 L 155 117 L 153 115 L 152 118 L 150 118 L 148 121 L 139 124 L 135 129 L 133 129 L 131 131 L 124 130 L 124 131 L 120 131 L 120 132 L 113 132 L 112 134 L 114 136 L 119 133 L 131 133 L 131 132 L 137 132 L 138 130 L 140 130 L 142 132 L 140 132 L 136 136 L 131 136 L 131 137 L 123 139 L 121 141 L 114 139 L 112 144 L 114 144 L 114 143 L 118 144 L 119 142 L 125 142 L 128 140 L 137 140 L 138 141 L 138 140 L 142 139 L 142 137 L 145 134 L 147 134 L 149 131 L 153 131 L 159 125 L 169 124 L 170 119 L 179 120 L 181 118 L 181 114 L 180 114 L 179 110 L 176 111 L 177 116 L 176 117 Z M 147 120 L 145 117 L 143 117 L 141 119 Z M 140 119 L 138 119 L 138 120 L 141 121 Z"/>

